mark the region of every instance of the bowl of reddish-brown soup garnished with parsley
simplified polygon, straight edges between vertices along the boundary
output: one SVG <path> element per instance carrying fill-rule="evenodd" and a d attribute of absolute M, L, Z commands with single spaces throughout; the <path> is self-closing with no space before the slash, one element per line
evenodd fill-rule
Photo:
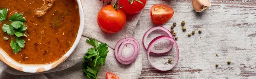
<path fill-rule="evenodd" d="M 49 71 L 64 62 L 78 45 L 84 28 L 81 0 L 0 3 L 0 17 L 7 12 L 6 20 L 0 20 L 0 60 L 10 67 L 28 73 Z M 26 30 L 20 32 L 18 25 Z"/>

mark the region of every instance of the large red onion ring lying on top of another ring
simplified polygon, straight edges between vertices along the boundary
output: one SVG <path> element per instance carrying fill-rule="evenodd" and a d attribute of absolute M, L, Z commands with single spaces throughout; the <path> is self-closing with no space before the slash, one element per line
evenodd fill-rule
<path fill-rule="evenodd" d="M 169 66 L 168 68 L 161 68 L 161 67 L 159 67 L 159 66 L 157 66 L 157 65 L 155 65 L 155 64 L 152 64 L 152 61 L 151 61 L 150 56 L 149 56 L 149 54 L 150 54 L 150 52 L 151 52 L 151 49 L 154 47 L 153 45 L 154 45 L 157 41 L 159 41 L 159 40 L 171 40 L 172 42 L 174 42 L 174 45 L 175 45 L 175 47 L 176 47 L 176 52 L 177 52 L 176 59 L 175 59 L 175 61 L 174 61 L 174 64 L 173 64 L 172 66 Z M 156 68 L 156 69 L 158 69 L 158 70 L 160 70 L 160 71 L 168 71 L 168 70 L 171 70 L 172 68 L 174 68 L 175 65 L 177 65 L 177 62 L 178 62 L 178 60 L 179 60 L 179 54 L 180 54 L 180 52 L 179 52 L 178 45 L 177 45 L 177 43 L 175 42 L 175 40 L 174 40 L 172 37 L 160 36 L 160 37 L 155 38 L 154 41 L 151 41 L 150 44 L 148 45 L 147 59 L 148 59 L 148 62 L 149 62 L 154 68 Z"/>

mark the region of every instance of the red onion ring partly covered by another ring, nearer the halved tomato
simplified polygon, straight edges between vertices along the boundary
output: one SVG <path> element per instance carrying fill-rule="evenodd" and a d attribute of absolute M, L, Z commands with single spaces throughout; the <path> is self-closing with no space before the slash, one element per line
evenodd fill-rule
<path fill-rule="evenodd" d="M 148 31 L 146 31 L 146 33 L 143 36 L 142 42 L 143 42 L 143 47 L 145 48 L 145 50 L 147 50 L 147 48 L 149 46 L 149 45 L 146 45 L 147 37 L 152 31 L 155 31 L 155 30 L 163 30 L 169 35 L 169 37 L 171 37 L 173 39 L 172 33 L 168 29 L 164 28 L 163 26 L 157 26 L 157 27 L 150 28 Z M 168 49 L 163 49 L 161 51 L 152 49 L 150 52 L 155 53 L 155 54 L 162 54 L 162 53 L 166 53 L 166 52 L 170 51 L 172 49 L 172 47 L 173 47 L 173 42 L 171 42 L 171 45 Z"/>

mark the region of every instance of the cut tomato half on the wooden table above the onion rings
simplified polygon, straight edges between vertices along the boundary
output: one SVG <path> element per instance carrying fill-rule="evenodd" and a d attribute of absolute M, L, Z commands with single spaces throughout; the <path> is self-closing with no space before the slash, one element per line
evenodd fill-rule
<path fill-rule="evenodd" d="M 172 18 L 174 11 L 171 7 L 157 4 L 151 7 L 150 15 L 151 20 L 155 24 L 163 24 Z"/>

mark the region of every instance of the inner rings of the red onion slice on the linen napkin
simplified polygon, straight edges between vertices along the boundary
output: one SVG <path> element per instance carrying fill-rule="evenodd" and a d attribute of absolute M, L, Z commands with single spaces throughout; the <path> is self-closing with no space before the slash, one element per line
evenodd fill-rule
<path fill-rule="evenodd" d="M 127 44 L 133 46 L 134 48 L 126 47 Z M 128 51 L 134 51 L 134 52 L 128 52 Z M 139 51 L 138 50 L 138 45 L 134 40 L 126 40 L 125 42 L 122 42 L 122 45 L 118 49 L 118 57 L 122 61 L 131 61 L 133 59 L 136 59 L 136 57 L 139 53 L 138 51 Z M 123 52 L 128 53 L 128 57 L 125 57 L 124 54 L 122 54 Z"/>

